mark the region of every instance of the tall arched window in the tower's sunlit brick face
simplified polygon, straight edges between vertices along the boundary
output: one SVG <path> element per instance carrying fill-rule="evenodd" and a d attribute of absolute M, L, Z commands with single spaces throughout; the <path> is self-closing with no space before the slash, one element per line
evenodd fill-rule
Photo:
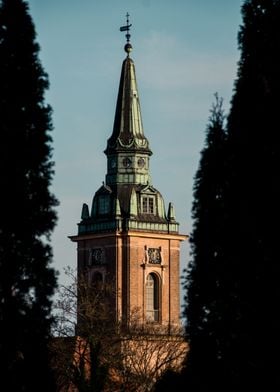
<path fill-rule="evenodd" d="M 146 280 L 146 319 L 159 321 L 159 279 L 156 274 L 149 274 Z"/>

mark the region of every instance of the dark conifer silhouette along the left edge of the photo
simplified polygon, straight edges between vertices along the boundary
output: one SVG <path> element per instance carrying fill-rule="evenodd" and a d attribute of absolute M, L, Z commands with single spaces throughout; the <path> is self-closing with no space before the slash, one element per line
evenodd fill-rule
<path fill-rule="evenodd" d="M 51 391 L 47 344 L 56 273 L 50 234 L 48 78 L 29 8 L 0 2 L 0 389 Z M 7 387 L 4 387 L 7 385 Z"/>

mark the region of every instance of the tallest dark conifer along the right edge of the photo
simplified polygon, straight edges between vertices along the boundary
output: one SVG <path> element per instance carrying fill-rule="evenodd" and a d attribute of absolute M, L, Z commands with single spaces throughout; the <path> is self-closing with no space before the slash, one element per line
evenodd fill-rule
<path fill-rule="evenodd" d="M 241 57 L 228 119 L 235 339 L 227 368 L 250 389 L 279 389 L 280 1 L 247 0 Z M 234 366 L 232 366 L 234 362 Z"/>

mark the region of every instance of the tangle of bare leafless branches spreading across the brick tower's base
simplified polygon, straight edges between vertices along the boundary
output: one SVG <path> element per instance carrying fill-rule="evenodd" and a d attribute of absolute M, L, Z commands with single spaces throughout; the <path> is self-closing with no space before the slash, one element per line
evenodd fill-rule
<path fill-rule="evenodd" d="M 66 270 L 61 286 L 52 344 L 58 384 L 85 391 L 151 391 L 166 369 L 180 369 L 186 344 L 180 330 L 143 324 L 130 314 L 129 329 L 112 314 L 112 284 L 89 284 L 87 275 Z M 78 320 L 78 327 L 75 324 Z"/>

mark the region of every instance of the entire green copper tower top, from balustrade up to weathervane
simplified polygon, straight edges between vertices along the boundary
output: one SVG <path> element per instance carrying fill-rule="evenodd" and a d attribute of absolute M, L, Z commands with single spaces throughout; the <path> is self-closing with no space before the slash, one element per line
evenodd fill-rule
<path fill-rule="evenodd" d="M 107 141 L 105 182 L 93 197 L 91 212 L 84 206 L 79 233 L 146 230 L 178 233 L 174 209 L 165 213 L 164 200 L 153 187 L 148 139 L 144 135 L 135 66 L 130 58 L 129 15 L 113 132 Z"/>

